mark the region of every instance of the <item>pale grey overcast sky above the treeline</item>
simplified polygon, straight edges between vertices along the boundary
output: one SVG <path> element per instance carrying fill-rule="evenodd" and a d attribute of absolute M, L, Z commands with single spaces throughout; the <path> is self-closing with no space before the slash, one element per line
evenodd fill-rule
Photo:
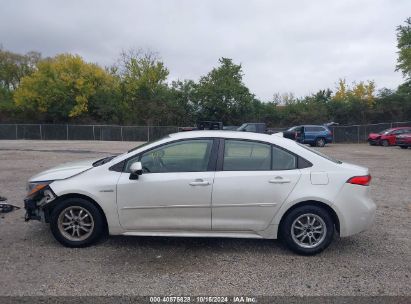
<path fill-rule="evenodd" d="M 0 0 L 0 44 L 44 56 L 70 52 L 110 65 L 121 50 L 159 53 L 170 79 L 194 79 L 220 57 L 241 63 L 263 100 L 347 82 L 395 88 L 395 28 L 410 0 Z"/>

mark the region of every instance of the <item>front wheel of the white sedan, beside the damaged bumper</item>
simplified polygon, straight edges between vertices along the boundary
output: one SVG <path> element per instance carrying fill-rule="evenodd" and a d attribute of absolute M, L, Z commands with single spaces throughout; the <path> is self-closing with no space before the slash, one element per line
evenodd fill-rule
<path fill-rule="evenodd" d="M 95 243 L 104 227 L 100 210 L 83 198 L 65 199 L 51 213 L 51 232 L 66 247 L 86 247 Z"/>

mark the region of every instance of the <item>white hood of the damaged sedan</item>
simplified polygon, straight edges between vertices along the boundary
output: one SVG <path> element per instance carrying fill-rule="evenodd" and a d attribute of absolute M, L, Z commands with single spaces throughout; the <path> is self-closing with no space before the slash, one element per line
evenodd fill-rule
<path fill-rule="evenodd" d="M 99 158 L 61 164 L 32 176 L 29 182 L 69 178 L 93 168 L 93 163 L 97 160 L 99 160 Z"/>

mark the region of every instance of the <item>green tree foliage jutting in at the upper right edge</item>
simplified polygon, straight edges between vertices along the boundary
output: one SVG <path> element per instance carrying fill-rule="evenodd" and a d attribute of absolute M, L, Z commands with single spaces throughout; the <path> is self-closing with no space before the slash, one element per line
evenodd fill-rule
<path fill-rule="evenodd" d="M 398 59 L 396 71 L 411 79 L 411 17 L 397 27 Z"/>

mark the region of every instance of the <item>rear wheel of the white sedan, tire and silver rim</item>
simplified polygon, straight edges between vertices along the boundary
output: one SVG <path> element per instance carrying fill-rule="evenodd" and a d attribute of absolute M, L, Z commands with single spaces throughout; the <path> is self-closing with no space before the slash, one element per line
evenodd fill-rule
<path fill-rule="evenodd" d="M 314 227 L 321 226 L 322 228 L 311 230 L 312 226 L 307 225 L 307 219 L 309 219 L 312 226 L 316 225 Z M 314 220 L 314 224 L 312 220 Z M 305 226 L 310 226 L 310 228 Z M 334 237 L 334 229 L 332 217 L 324 208 L 306 205 L 297 207 L 286 215 L 281 222 L 279 236 L 285 245 L 295 253 L 313 255 L 320 253 L 330 245 Z M 301 234 L 298 233 L 299 231 L 306 233 L 305 238 L 304 234 L 301 237 L 299 236 Z M 313 236 L 317 236 L 317 244 L 316 241 L 313 241 L 313 239 L 315 240 Z M 310 241 L 312 242 L 311 245 Z"/>

